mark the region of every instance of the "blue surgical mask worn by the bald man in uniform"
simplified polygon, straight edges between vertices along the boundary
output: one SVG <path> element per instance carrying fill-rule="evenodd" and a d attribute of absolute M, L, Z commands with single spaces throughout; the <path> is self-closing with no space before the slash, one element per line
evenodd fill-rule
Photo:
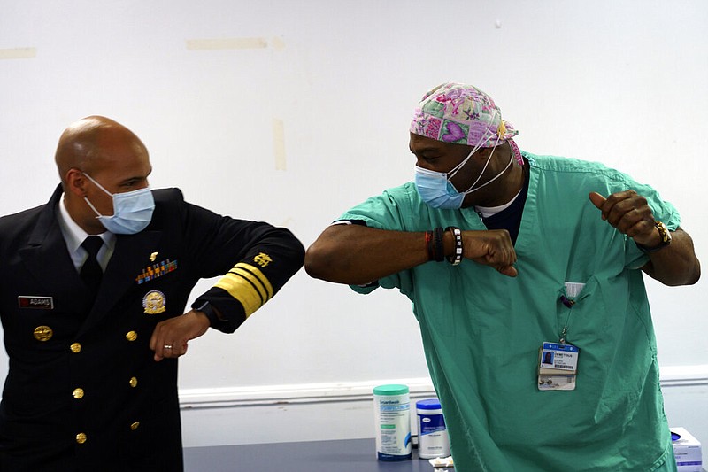
<path fill-rule="evenodd" d="M 113 198 L 112 216 L 104 216 L 98 213 L 96 207 L 89 202 L 89 198 L 83 198 L 96 213 L 96 218 L 101 221 L 104 228 L 117 235 L 135 235 L 135 233 L 147 228 L 152 220 L 152 212 L 155 210 L 155 200 L 152 197 L 150 187 L 131 192 L 111 193 L 105 190 L 89 174 L 84 173 L 84 175 L 89 178 L 89 181 L 94 182 L 99 189 L 104 190 L 105 193 Z"/>

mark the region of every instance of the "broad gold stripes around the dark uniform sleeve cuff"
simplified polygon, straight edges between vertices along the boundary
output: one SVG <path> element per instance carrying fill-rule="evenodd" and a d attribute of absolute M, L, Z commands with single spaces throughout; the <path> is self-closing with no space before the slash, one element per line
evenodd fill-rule
<path fill-rule="evenodd" d="M 214 287 L 227 290 L 229 295 L 240 301 L 246 317 L 273 297 L 273 285 L 266 275 L 258 267 L 244 262 L 236 264 Z"/>

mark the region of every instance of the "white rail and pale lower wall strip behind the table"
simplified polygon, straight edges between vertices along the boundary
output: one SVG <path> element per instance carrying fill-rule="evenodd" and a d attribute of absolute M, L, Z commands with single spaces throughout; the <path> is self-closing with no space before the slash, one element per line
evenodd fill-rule
<path fill-rule="evenodd" d="M 412 400 L 435 397 L 427 377 L 183 389 L 182 439 L 196 447 L 373 437 L 373 388 L 384 383 L 408 385 Z M 673 426 L 708 437 L 708 365 L 662 368 L 661 386 Z"/>

